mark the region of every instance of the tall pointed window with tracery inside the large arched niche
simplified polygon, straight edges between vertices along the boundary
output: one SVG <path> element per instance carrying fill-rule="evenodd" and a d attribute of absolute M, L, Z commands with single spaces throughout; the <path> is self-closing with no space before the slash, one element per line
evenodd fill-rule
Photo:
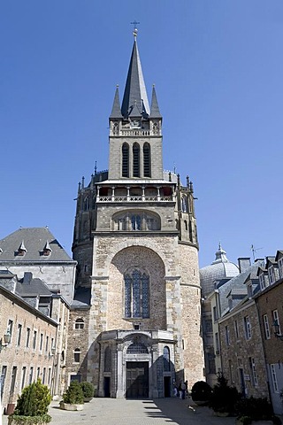
<path fill-rule="evenodd" d="M 126 274 L 125 316 L 149 317 L 149 276 L 140 270 Z"/>

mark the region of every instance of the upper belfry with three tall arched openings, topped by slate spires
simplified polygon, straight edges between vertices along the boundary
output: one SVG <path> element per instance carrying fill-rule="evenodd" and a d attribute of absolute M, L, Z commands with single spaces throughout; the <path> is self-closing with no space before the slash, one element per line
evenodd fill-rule
<path fill-rule="evenodd" d="M 134 30 L 134 46 L 122 106 L 117 87 L 110 116 L 109 180 L 163 179 L 162 117 L 156 89 L 151 107 L 143 80 Z"/>

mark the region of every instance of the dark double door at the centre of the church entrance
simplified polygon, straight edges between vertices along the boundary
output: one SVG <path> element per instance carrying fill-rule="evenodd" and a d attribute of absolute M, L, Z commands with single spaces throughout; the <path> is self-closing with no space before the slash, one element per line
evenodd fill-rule
<path fill-rule="evenodd" d="M 126 362 L 126 398 L 149 397 L 149 363 Z"/>

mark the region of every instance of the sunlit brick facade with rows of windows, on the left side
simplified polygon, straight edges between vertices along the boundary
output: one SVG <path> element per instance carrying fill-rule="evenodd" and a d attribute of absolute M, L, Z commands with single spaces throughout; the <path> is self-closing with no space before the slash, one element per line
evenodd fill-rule
<path fill-rule="evenodd" d="M 0 352 L 2 404 L 9 413 L 21 390 L 37 377 L 50 390 L 54 386 L 52 348 L 56 346 L 57 322 L 1 286 L 0 305 L 2 344 L 7 329 L 11 332 L 11 343 Z"/>

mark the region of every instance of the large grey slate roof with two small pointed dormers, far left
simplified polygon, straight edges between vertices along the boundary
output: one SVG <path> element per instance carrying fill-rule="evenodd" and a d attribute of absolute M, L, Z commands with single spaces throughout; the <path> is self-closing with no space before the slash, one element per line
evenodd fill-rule
<path fill-rule="evenodd" d="M 44 248 L 50 248 L 50 255 L 43 255 Z M 23 255 L 19 255 L 19 250 Z M 4 261 L 20 262 L 73 262 L 64 248 L 52 235 L 49 228 L 19 228 L 0 240 L 0 264 Z"/>

